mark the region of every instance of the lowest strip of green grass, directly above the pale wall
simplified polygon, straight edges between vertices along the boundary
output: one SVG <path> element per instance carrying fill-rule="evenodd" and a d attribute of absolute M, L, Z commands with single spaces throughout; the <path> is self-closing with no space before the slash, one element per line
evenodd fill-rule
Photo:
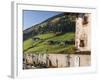
<path fill-rule="evenodd" d="M 59 45 L 42 45 L 29 49 L 27 52 L 33 53 L 74 53 L 74 45 L 59 46 Z"/>

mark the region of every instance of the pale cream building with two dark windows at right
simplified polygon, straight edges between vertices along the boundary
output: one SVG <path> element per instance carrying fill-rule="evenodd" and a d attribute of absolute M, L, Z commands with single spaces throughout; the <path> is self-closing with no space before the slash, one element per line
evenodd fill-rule
<path fill-rule="evenodd" d="M 78 51 L 91 50 L 91 14 L 79 13 L 76 18 L 75 46 Z"/>

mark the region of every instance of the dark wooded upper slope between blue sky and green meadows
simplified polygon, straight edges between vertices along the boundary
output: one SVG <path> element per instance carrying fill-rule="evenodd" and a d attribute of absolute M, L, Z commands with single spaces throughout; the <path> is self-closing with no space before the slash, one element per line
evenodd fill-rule
<path fill-rule="evenodd" d="M 23 31 L 23 40 L 31 38 L 34 35 L 46 32 L 75 32 L 75 15 L 71 13 L 62 13 L 47 20 L 31 26 Z"/>

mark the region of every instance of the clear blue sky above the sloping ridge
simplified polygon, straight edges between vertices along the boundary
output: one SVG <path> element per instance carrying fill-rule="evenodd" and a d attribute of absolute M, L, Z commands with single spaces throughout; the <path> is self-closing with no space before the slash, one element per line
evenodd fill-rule
<path fill-rule="evenodd" d="M 60 13 L 61 12 L 24 10 L 23 11 L 24 30 Z"/>

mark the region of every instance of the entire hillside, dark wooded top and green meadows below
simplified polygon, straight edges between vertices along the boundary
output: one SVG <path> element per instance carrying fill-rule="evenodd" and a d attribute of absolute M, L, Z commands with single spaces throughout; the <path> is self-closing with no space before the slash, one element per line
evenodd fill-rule
<path fill-rule="evenodd" d="M 75 16 L 62 13 L 23 31 L 24 53 L 74 53 Z"/>

